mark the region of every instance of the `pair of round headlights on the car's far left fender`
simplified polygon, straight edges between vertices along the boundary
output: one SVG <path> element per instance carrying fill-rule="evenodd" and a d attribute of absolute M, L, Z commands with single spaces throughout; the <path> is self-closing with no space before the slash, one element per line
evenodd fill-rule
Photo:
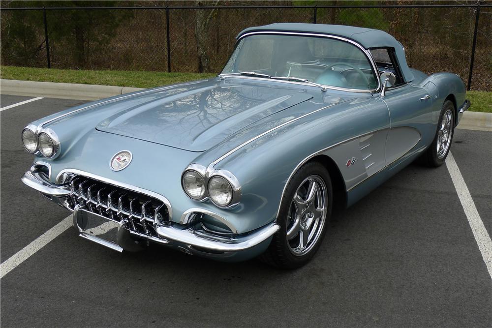
<path fill-rule="evenodd" d="M 55 158 L 59 154 L 60 140 L 52 129 L 44 129 L 36 135 L 36 126 L 28 125 L 22 131 L 22 144 L 31 154 L 39 150 L 44 157 Z"/>

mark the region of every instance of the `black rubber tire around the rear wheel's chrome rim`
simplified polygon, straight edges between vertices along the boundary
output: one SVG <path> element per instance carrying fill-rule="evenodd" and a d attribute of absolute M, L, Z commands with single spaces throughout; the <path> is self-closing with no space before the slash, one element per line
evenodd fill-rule
<path fill-rule="evenodd" d="M 443 123 L 443 118 L 446 113 L 451 114 L 451 122 L 449 126 L 449 131 L 448 131 L 448 138 L 449 138 L 449 145 L 446 147 L 445 151 L 443 153 L 438 153 L 437 151 L 437 145 L 440 143 L 440 136 L 439 132 L 442 127 Z M 429 167 L 438 167 L 441 166 L 444 161 L 446 160 L 446 157 L 448 156 L 449 150 L 451 149 L 451 143 L 453 141 L 453 135 L 454 135 L 454 125 L 455 125 L 455 105 L 453 104 L 452 101 L 446 100 L 444 104 L 442 105 L 441 113 L 439 115 L 439 121 L 437 123 L 437 129 L 435 132 L 434 140 L 432 141 L 431 146 L 424 152 L 422 155 L 421 159 L 423 164 L 429 166 Z"/>

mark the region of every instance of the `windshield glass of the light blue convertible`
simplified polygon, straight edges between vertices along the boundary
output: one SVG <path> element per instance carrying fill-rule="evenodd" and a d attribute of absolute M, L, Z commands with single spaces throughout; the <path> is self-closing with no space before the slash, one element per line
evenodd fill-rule
<path fill-rule="evenodd" d="M 254 34 L 242 38 L 221 74 L 254 72 L 326 86 L 375 89 L 377 77 L 355 45 L 314 36 Z M 252 74 L 250 74 L 251 76 Z M 260 76 L 260 78 L 268 78 Z"/>

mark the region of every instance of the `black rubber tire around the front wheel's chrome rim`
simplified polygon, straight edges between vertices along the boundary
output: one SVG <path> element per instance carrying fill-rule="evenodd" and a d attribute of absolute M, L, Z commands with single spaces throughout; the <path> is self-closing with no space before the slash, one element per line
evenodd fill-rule
<path fill-rule="evenodd" d="M 304 188 L 301 185 L 303 184 L 303 181 L 306 181 L 306 179 L 310 179 L 311 177 L 314 177 L 315 179 L 320 178 L 324 182 L 324 185 L 326 187 L 326 197 L 324 198 L 325 199 L 324 202 L 326 202 L 327 204 L 327 209 L 325 211 L 324 220 L 320 219 L 321 221 L 318 221 L 318 224 L 321 225 L 321 227 L 316 226 L 314 223 L 310 226 L 312 228 L 311 232 L 313 232 L 315 228 L 320 229 L 319 232 L 314 234 L 314 236 L 316 236 L 316 239 L 312 239 L 313 241 L 311 242 L 309 248 L 306 249 L 306 253 L 295 255 L 295 251 L 292 250 L 292 246 L 290 244 L 293 241 L 292 240 L 289 241 L 287 239 L 288 225 L 293 223 L 292 221 L 293 219 L 291 219 L 289 214 L 291 214 L 292 206 L 294 206 L 295 209 L 295 205 L 293 203 L 294 195 L 298 193 L 299 188 Z M 320 182 L 320 180 L 318 179 L 317 182 Z M 309 184 L 310 180 L 307 180 L 303 185 L 306 185 L 306 183 Z M 323 193 L 322 184 L 319 184 L 319 187 L 320 187 L 319 190 L 321 190 L 321 193 Z M 315 202 L 318 203 L 319 200 Z M 312 204 L 312 203 L 314 203 L 314 201 L 309 202 L 307 204 Z M 312 206 L 316 206 L 316 205 L 312 205 Z M 323 237 L 326 233 L 326 226 L 328 225 L 328 222 L 331 217 L 332 207 L 333 207 L 333 187 L 328 171 L 325 169 L 325 167 L 322 164 L 318 162 L 309 162 L 304 166 L 302 166 L 294 174 L 294 176 L 289 181 L 285 189 L 285 194 L 283 199 L 281 200 L 280 211 L 277 218 L 277 223 L 280 224 L 280 229 L 274 235 L 272 242 L 270 243 L 270 246 L 265 251 L 265 253 L 259 256 L 260 261 L 277 268 L 293 269 L 293 268 L 299 268 L 304 266 L 314 256 L 314 254 L 318 250 L 323 240 Z M 312 213 L 312 212 L 308 212 L 308 213 Z M 291 214 L 291 216 L 293 215 Z M 323 215 L 321 215 L 321 217 L 323 217 Z M 308 235 L 311 236 L 310 233 Z M 301 239 L 302 235 L 300 235 L 299 238 Z M 307 242 L 307 245 L 308 244 L 309 242 Z"/>

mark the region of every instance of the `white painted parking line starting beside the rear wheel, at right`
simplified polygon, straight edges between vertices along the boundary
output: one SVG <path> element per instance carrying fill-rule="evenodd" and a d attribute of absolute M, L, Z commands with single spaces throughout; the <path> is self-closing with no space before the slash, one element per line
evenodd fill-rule
<path fill-rule="evenodd" d="M 492 279 L 492 240 L 489 233 L 485 229 L 484 222 L 478 214 L 475 203 L 473 203 L 468 187 L 461 176 L 460 169 L 458 168 L 451 151 L 448 153 L 448 157 L 446 158 L 446 166 L 449 174 L 451 175 L 451 179 L 453 180 L 453 184 L 455 185 L 456 192 L 460 198 L 461 206 L 464 209 L 464 213 L 468 219 L 468 223 L 470 224 L 473 236 L 477 241 L 478 248 L 482 253 L 485 265 L 487 266 L 487 270 L 489 270 L 489 275 Z"/>

